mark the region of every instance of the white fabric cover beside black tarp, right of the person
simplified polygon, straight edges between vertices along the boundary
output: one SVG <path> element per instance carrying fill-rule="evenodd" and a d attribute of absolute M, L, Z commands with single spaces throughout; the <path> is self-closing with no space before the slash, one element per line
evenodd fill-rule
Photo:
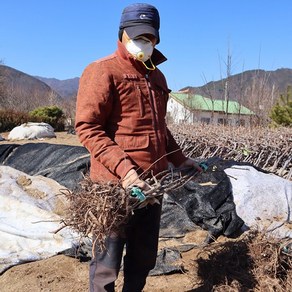
<path fill-rule="evenodd" d="M 292 181 L 251 166 L 227 168 L 236 212 L 248 227 L 292 237 Z"/>

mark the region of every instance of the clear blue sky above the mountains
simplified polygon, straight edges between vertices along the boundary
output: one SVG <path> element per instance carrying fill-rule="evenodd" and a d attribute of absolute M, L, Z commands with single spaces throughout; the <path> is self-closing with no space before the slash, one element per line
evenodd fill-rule
<path fill-rule="evenodd" d="M 1 1 L 0 60 L 30 75 L 69 79 L 112 53 L 118 0 Z M 160 66 L 169 88 L 200 86 L 245 70 L 292 68 L 292 1 L 148 1 L 160 12 Z"/>

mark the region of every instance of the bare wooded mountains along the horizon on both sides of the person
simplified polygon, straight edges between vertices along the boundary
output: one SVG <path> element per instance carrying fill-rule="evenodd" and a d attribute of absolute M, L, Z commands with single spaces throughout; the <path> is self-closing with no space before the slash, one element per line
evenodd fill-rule
<path fill-rule="evenodd" d="M 23 95 L 34 95 L 36 98 L 43 100 L 49 100 L 54 95 L 57 100 L 66 101 L 76 98 L 79 77 L 59 80 L 57 78 L 31 76 L 12 67 L 0 65 L 0 106 L 1 101 L 3 102 L 5 97 L 7 98 L 9 95 L 7 92 L 13 89 L 11 84 L 14 84 L 15 88 L 18 89 L 14 89 L 18 100 L 21 100 Z M 290 68 L 279 68 L 274 71 L 254 69 L 221 80 L 211 81 L 202 86 L 186 86 L 180 91 L 187 91 L 212 99 L 224 99 L 228 95 L 229 100 L 235 100 L 250 107 L 251 101 L 249 99 L 257 99 L 261 102 L 264 98 L 268 98 L 273 103 L 280 93 L 286 91 L 288 85 L 292 85 L 292 69 Z"/>

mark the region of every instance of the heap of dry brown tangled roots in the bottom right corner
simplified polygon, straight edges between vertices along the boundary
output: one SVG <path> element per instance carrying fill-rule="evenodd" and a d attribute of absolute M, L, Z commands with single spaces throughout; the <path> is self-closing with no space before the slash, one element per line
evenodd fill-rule
<path fill-rule="evenodd" d="M 249 231 L 199 253 L 194 291 L 292 291 L 292 241 Z M 287 252 L 289 249 L 289 252 Z"/>

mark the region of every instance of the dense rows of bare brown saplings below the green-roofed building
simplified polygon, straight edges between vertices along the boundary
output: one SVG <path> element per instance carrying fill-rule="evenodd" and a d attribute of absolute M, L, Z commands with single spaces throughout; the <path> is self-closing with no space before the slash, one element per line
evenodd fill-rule
<path fill-rule="evenodd" d="M 292 179 L 292 128 L 245 128 L 213 125 L 171 125 L 183 151 L 191 157 L 219 156 L 251 163 Z"/>

